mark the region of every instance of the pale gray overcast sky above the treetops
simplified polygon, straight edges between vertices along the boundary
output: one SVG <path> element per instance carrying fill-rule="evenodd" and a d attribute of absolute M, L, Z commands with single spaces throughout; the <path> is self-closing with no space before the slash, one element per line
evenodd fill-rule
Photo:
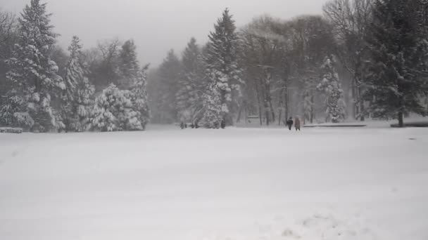
<path fill-rule="evenodd" d="M 68 46 L 73 35 L 85 48 L 97 41 L 118 37 L 134 39 L 141 64 L 158 65 L 166 52 L 181 53 L 191 36 L 205 43 L 213 24 L 228 7 L 245 25 L 252 18 L 269 14 L 288 19 L 296 15 L 321 13 L 327 0 L 46 0 L 53 13 L 59 44 Z M 5 11 L 20 12 L 30 0 L 0 0 Z"/>

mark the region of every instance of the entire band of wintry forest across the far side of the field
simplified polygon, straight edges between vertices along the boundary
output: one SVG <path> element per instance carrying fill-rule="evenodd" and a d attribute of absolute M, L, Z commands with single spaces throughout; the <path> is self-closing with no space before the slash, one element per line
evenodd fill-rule
<path fill-rule="evenodd" d="M 332 0 L 322 15 L 262 15 L 244 27 L 229 9 L 209 40 L 140 65 L 132 40 L 57 45 L 49 6 L 0 11 L 0 126 L 32 132 L 142 131 L 191 122 L 218 128 L 398 119 L 428 113 L 428 2 Z M 114 34 L 114 33 L 112 33 Z"/>

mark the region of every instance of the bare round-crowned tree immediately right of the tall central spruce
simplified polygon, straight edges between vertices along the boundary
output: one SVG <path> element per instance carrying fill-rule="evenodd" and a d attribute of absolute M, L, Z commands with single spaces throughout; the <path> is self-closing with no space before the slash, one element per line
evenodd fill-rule
<path fill-rule="evenodd" d="M 284 72 L 282 62 L 285 37 L 282 22 L 277 22 L 269 16 L 254 19 L 241 32 L 241 58 L 244 58 L 244 73 L 255 81 L 259 108 L 265 113 L 265 122 L 269 125 L 275 121 L 273 104 L 273 89 L 275 85 L 284 92 L 284 81 L 276 81 L 277 72 Z M 248 80 L 247 80 L 248 81 Z M 247 83 L 246 83 L 247 84 Z M 279 94 L 282 99 L 282 94 Z M 260 114 L 261 116 L 261 114 Z"/>

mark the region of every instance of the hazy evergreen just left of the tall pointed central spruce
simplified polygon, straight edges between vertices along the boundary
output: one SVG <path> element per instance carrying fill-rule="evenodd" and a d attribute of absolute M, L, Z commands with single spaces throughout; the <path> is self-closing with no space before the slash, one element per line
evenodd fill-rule
<path fill-rule="evenodd" d="M 203 62 L 196 39 L 191 38 L 182 55 L 183 72 L 177 91 L 177 109 L 180 121 L 194 121 L 202 107 Z"/>

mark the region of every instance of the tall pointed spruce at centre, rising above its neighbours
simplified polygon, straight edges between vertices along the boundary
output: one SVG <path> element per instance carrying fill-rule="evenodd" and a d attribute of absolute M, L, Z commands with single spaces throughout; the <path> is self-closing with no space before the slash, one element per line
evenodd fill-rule
<path fill-rule="evenodd" d="M 226 9 L 222 18 L 214 25 L 214 32 L 210 33 L 207 55 L 205 58 L 207 76 L 213 82 L 213 86 L 220 92 L 221 116 L 227 125 L 232 125 L 232 114 L 237 112 L 237 98 L 241 95 L 242 84 L 240 70 L 237 61 L 238 36 L 232 15 Z M 213 98 L 216 98 L 217 90 L 211 87 Z M 209 92 L 208 92 L 209 94 Z"/>

